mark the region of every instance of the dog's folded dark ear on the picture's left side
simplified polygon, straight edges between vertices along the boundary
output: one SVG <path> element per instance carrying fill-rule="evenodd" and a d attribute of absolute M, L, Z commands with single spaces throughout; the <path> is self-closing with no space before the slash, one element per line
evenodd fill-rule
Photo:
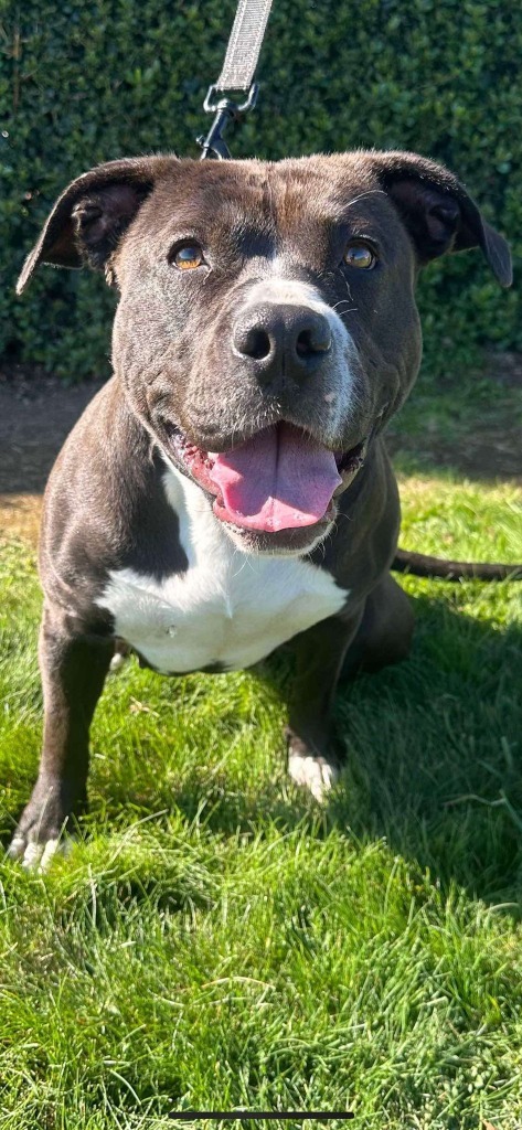
<path fill-rule="evenodd" d="M 38 263 L 103 270 L 158 175 L 175 157 L 131 157 L 92 168 L 56 200 L 17 282 L 27 286 Z"/>

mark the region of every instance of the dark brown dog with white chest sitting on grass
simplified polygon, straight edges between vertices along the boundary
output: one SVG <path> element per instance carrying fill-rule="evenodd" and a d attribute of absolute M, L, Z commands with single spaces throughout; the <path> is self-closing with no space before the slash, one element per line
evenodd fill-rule
<path fill-rule="evenodd" d="M 115 646 L 165 675 L 296 651 L 288 767 L 336 776 L 341 671 L 402 659 L 399 499 L 382 433 L 416 379 L 419 268 L 510 253 L 459 181 L 408 153 L 112 162 L 58 200 L 24 267 L 103 269 L 115 375 L 45 495 L 40 775 L 11 853 L 45 866 L 86 801 Z"/>

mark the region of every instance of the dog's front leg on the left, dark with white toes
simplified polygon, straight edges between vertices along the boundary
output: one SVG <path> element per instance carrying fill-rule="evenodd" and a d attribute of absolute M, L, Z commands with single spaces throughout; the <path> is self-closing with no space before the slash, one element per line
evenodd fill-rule
<path fill-rule="evenodd" d="M 87 799 L 89 727 L 113 642 L 84 635 L 61 609 L 46 607 L 40 635 L 44 740 L 38 779 L 9 853 L 45 868 L 64 825 Z"/>

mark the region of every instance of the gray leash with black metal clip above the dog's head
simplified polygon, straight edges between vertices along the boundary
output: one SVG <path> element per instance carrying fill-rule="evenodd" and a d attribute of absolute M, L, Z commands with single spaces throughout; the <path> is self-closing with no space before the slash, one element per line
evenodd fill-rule
<path fill-rule="evenodd" d="M 255 106 L 259 88 L 253 78 L 271 7 L 272 0 L 238 2 L 221 73 L 217 82 L 209 87 L 203 103 L 203 110 L 216 116 L 207 137 L 198 138 L 198 145 L 203 150 L 201 160 L 208 157 L 224 160 L 229 157 L 230 153 L 223 139 L 226 127 L 229 122 L 240 121 L 242 114 Z M 241 103 L 227 96 L 219 98 L 219 94 L 226 94 L 227 90 L 240 90 L 246 97 Z"/>

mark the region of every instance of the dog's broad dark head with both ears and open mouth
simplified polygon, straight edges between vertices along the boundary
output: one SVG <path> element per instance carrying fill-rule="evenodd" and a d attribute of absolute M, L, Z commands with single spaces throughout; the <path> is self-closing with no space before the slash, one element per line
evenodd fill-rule
<path fill-rule="evenodd" d="M 417 375 L 419 268 L 468 247 L 510 285 L 502 236 L 415 154 L 143 157 L 73 181 L 18 289 L 104 269 L 133 411 L 244 548 L 306 553 Z"/>

